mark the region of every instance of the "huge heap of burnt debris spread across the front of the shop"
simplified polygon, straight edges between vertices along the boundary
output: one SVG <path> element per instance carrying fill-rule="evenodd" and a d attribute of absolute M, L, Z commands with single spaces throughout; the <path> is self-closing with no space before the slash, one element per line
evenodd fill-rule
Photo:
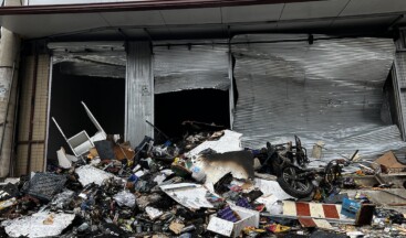
<path fill-rule="evenodd" d="M 358 151 L 312 167 L 299 137 L 243 149 L 240 133 L 188 134 L 137 147 L 106 136 L 86 153 L 58 151 L 48 172 L 0 186 L 10 237 L 402 237 L 406 218 L 373 194 L 404 170 L 391 152 L 362 164 Z M 324 142 L 317 142 L 316 159 Z M 365 161 L 364 161 L 365 162 Z M 354 173 L 345 169 L 356 166 Z M 376 180 L 366 190 L 358 177 Z M 400 188 L 404 190 L 404 188 Z M 355 192 L 355 193 L 353 193 Z M 402 198 L 402 195 L 396 194 Z M 398 204 L 402 204 L 400 202 Z M 406 205 L 406 198 L 405 204 Z M 397 208 L 397 207 L 395 207 Z"/>

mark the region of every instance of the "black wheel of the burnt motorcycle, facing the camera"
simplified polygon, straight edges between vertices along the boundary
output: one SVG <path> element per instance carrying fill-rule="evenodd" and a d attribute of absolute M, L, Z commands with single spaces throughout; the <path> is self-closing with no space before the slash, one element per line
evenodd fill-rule
<path fill-rule="evenodd" d="M 294 166 L 285 166 L 282 169 L 280 176 L 278 176 L 277 182 L 287 194 L 293 197 L 309 197 L 314 191 L 314 185 L 308 178 L 294 180 L 298 172 L 300 171 Z"/>

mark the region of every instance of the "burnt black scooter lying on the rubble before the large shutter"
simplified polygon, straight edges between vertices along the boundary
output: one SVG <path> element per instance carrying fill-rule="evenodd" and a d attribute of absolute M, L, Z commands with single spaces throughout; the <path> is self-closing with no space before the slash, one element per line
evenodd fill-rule
<path fill-rule="evenodd" d="M 277 182 L 289 195 L 305 198 L 312 195 L 316 187 L 331 194 L 342 183 L 342 169 L 351 163 L 357 151 L 350 160 L 332 160 L 324 167 L 306 167 L 308 153 L 299 137 L 292 142 L 271 145 L 267 143 L 267 160 L 262 163 L 267 172 L 278 176 Z"/>

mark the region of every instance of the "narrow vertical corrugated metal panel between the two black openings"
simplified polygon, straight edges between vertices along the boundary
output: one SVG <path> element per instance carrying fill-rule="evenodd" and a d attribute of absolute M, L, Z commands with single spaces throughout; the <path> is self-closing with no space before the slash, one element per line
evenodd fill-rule
<path fill-rule="evenodd" d="M 129 42 L 127 48 L 125 138 L 137 145 L 154 137 L 154 76 L 149 42 Z"/>

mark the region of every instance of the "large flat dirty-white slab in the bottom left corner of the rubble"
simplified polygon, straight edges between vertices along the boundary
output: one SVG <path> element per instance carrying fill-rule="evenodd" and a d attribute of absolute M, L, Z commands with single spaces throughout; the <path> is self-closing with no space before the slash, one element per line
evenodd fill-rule
<path fill-rule="evenodd" d="M 4 220 L 1 226 L 10 237 L 52 237 L 60 235 L 75 218 L 74 214 L 40 212 L 12 220 Z M 50 223 L 44 223 L 44 220 Z"/>

